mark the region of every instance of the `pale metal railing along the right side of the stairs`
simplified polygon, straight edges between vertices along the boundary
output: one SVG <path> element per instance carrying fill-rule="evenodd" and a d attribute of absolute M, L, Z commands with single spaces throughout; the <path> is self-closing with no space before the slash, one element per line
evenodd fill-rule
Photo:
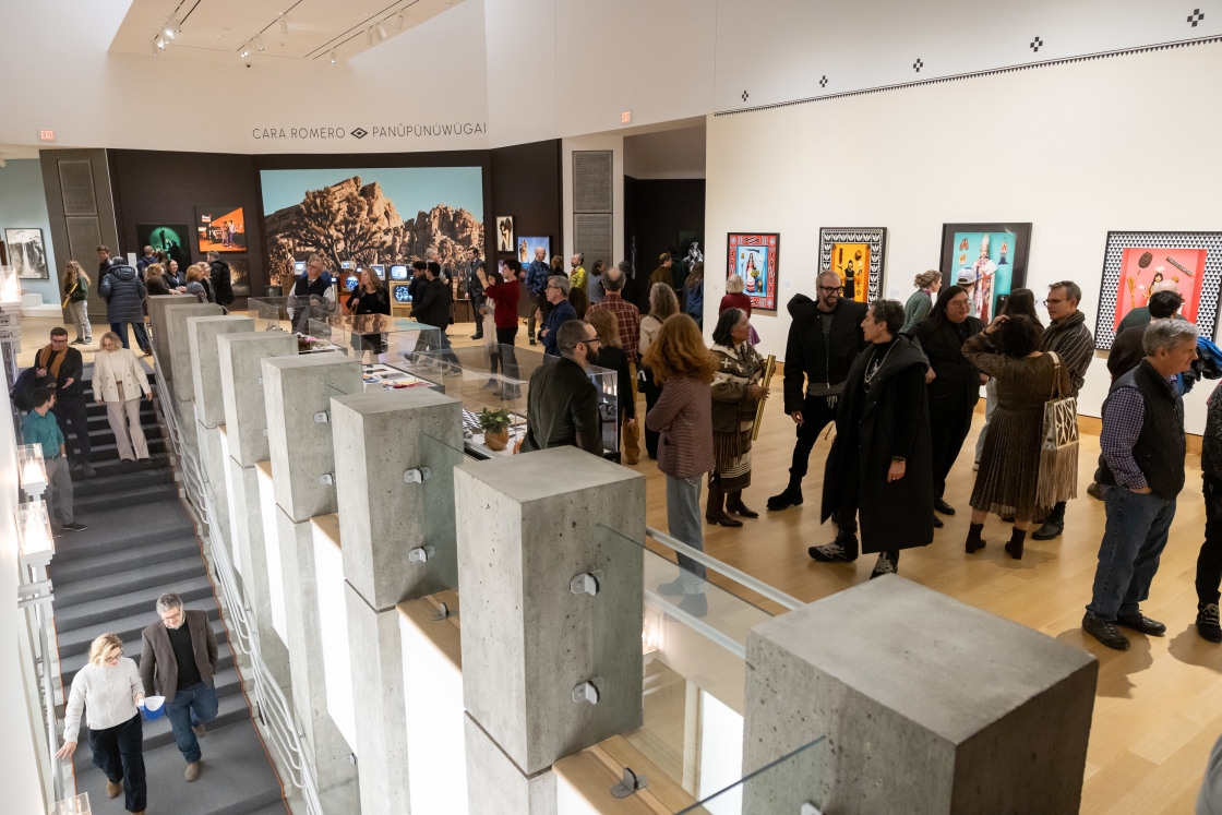
<path fill-rule="evenodd" d="M 225 545 L 224 534 L 216 522 L 216 511 L 208 488 L 208 478 L 200 468 L 197 451 L 191 450 L 191 446 L 183 441 L 181 418 L 178 417 L 174 398 L 174 389 L 165 381 L 161 373 L 161 362 L 156 359 L 155 352 L 153 358 L 158 404 L 170 436 L 170 444 L 174 447 L 174 453 L 178 458 L 186 497 L 196 513 L 207 524 L 208 534 L 211 539 L 215 573 L 220 583 L 221 594 L 229 606 L 230 622 L 232 623 L 231 633 L 233 637 L 230 638 L 230 644 L 251 659 L 249 673 L 251 679 L 253 679 L 253 695 L 259 720 L 270 734 L 276 753 L 288 767 L 290 781 L 302 791 L 307 813 L 309 815 L 323 815 L 323 806 L 318 798 L 318 782 L 314 778 L 313 769 L 306 760 L 306 751 L 302 749 L 302 740 L 298 736 L 299 729 L 292 705 L 285 699 L 284 692 L 281 692 L 275 677 L 273 677 L 271 671 L 263 661 L 263 654 L 259 649 L 259 632 L 254 624 L 253 612 L 235 578 L 229 547 Z"/>

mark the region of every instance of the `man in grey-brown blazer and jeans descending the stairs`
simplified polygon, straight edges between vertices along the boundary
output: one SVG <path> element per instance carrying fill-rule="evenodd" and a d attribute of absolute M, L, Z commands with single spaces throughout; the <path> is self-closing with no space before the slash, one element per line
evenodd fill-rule
<path fill-rule="evenodd" d="M 174 740 L 187 760 L 183 777 L 194 781 L 200 771 L 199 737 L 204 723 L 216 718 L 216 637 L 204 611 L 187 611 L 182 598 L 163 594 L 156 599 L 161 622 L 141 634 L 141 679 L 144 688 L 165 696 Z"/>

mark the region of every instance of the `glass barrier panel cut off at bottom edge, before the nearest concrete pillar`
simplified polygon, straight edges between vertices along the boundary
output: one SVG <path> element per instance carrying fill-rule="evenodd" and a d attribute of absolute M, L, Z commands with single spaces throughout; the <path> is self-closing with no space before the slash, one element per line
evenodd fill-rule
<path fill-rule="evenodd" d="M 805 811 L 822 811 L 827 760 L 827 737 L 820 736 L 678 815 L 800 815 L 807 804 Z"/>

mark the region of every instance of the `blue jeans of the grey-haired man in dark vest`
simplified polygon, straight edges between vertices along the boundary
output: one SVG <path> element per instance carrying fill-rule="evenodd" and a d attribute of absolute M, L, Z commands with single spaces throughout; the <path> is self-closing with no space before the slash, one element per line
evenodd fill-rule
<path fill-rule="evenodd" d="M 1103 622 L 1135 615 L 1150 596 L 1150 583 L 1167 545 L 1176 502 L 1123 486 L 1107 490 L 1107 528 L 1099 546 L 1095 588 L 1086 611 Z"/>

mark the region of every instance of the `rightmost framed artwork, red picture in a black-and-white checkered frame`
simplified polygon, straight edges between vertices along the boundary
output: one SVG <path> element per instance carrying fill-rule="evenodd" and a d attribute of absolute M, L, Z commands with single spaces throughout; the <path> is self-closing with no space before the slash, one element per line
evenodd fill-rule
<path fill-rule="evenodd" d="M 1111 348 L 1124 315 L 1162 288 L 1178 291 L 1179 313 L 1212 338 L 1220 285 L 1222 232 L 1108 232 L 1095 347 Z"/>

